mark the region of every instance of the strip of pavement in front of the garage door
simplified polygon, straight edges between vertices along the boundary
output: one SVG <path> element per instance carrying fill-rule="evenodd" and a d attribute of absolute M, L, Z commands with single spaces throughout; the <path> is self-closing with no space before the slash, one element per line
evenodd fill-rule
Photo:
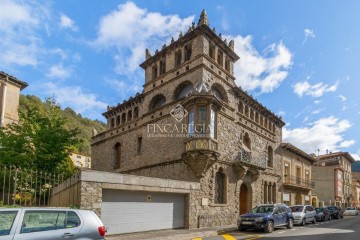
<path fill-rule="evenodd" d="M 191 240 L 193 238 L 216 236 L 218 235 L 218 232 L 222 233 L 224 231 L 233 231 L 236 229 L 236 225 L 201 229 L 169 229 L 110 235 L 106 236 L 106 240 Z"/>

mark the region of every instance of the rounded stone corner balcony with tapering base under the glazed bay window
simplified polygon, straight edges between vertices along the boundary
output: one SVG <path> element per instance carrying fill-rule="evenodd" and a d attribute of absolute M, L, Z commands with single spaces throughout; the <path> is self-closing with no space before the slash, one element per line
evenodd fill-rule
<path fill-rule="evenodd" d="M 185 140 L 185 151 L 182 155 L 195 176 L 202 178 L 219 158 L 218 143 L 208 137 L 189 138 Z"/>

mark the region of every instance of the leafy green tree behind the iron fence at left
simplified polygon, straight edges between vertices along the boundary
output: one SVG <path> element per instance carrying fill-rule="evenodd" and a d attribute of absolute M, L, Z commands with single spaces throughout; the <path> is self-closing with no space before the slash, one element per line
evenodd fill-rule
<path fill-rule="evenodd" d="M 66 118 L 53 99 L 46 99 L 44 109 L 28 105 L 19 110 L 19 123 L 1 129 L 0 163 L 71 175 L 76 168 L 69 154 L 80 131 L 64 128 Z"/>

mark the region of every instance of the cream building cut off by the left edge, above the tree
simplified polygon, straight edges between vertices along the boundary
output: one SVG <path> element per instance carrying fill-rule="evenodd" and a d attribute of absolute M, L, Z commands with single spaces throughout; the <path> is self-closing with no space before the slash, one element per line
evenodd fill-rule
<path fill-rule="evenodd" d="M 19 120 L 20 91 L 28 84 L 0 71 L 0 127 Z"/>

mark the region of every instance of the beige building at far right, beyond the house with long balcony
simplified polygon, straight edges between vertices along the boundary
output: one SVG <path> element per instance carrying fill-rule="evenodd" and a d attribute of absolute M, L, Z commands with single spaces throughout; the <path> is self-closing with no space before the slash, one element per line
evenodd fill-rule
<path fill-rule="evenodd" d="M 317 156 L 312 166 L 315 193 L 325 205 L 351 206 L 352 175 L 354 158 L 348 152 L 328 153 Z"/>

